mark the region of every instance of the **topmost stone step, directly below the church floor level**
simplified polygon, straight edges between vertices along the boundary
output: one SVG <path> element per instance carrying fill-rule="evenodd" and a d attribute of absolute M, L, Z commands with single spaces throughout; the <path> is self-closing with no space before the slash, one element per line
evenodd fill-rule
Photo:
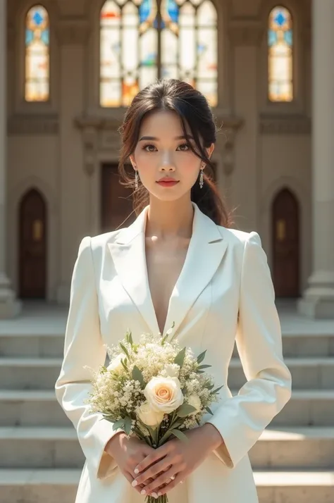
<path fill-rule="evenodd" d="M 63 356 L 63 332 L 39 333 L 4 333 L 0 331 L 0 356 L 9 357 L 58 357 Z M 285 357 L 303 358 L 304 356 L 334 356 L 333 333 L 288 333 L 283 330 L 283 352 Z M 237 350 L 234 350 L 237 356 Z"/>

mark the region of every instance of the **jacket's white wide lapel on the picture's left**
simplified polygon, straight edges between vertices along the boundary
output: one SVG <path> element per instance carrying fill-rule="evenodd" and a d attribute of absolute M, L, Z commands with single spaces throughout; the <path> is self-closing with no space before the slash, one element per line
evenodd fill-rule
<path fill-rule="evenodd" d="M 116 241 L 109 243 L 109 249 L 123 287 L 149 325 L 151 333 L 158 334 L 159 325 L 149 291 L 145 255 L 147 209 L 148 206 L 132 225 L 120 231 Z"/>

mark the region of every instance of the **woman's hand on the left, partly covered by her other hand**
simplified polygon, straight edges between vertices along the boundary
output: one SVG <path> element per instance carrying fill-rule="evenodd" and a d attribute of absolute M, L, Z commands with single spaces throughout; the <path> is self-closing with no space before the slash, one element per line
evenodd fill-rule
<path fill-rule="evenodd" d="M 118 464 L 123 476 L 132 484 L 135 477 L 135 467 L 149 455 L 154 454 L 154 449 L 137 437 L 128 437 L 125 433 L 118 433 L 109 440 L 105 451 Z M 153 479 L 149 480 L 152 482 Z M 135 485 L 137 492 L 141 492 L 144 485 Z"/>

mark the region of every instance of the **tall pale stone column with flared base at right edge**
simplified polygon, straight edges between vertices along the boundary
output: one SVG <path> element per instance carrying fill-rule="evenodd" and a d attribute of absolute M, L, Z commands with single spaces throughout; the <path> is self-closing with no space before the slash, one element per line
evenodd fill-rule
<path fill-rule="evenodd" d="M 314 260 L 299 312 L 334 318 L 334 1 L 313 0 L 312 21 Z"/>

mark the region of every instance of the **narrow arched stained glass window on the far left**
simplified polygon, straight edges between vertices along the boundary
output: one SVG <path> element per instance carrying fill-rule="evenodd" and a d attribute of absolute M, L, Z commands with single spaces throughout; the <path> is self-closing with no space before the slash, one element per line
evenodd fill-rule
<path fill-rule="evenodd" d="M 49 99 L 49 15 L 43 6 L 30 8 L 25 19 L 25 100 Z"/>

